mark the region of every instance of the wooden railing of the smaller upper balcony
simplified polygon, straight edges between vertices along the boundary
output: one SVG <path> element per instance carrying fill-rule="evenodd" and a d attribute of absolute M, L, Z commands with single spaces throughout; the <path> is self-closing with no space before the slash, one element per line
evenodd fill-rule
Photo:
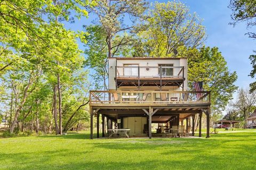
<path fill-rule="evenodd" d="M 183 66 L 116 66 L 119 78 L 184 78 Z"/>

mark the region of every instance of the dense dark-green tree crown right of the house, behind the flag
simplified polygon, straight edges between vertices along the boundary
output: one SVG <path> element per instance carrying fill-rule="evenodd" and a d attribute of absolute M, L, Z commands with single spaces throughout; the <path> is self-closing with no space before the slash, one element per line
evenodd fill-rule
<path fill-rule="evenodd" d="M 237 87 L 236 72 L 229 72 L 227 62 L 217 47 L 202 47 L 188 58 L 188 81 L 192 89 L 193 82 L 203 81 L 205 91 L 211 91 L 211 108 L 218 114 L 232 99 Z"/>

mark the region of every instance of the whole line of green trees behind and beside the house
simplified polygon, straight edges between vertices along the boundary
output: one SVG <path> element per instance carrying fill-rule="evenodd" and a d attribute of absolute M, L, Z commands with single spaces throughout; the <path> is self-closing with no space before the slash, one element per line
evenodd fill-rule
<path fill-rule="evenodd" d="M 86 128 L 89 90 L 108 90 L 109 57 L 188 57 L 189 88 L 203 81 L 212 91 L 212 117 L 237 90 L 218 47 L 204 45 L 202 19 L 179 1 L 1 1 L 0 16 L 1 116 L 11 134 Z M 65 27 L 87 17 L 83 31 Z"/>

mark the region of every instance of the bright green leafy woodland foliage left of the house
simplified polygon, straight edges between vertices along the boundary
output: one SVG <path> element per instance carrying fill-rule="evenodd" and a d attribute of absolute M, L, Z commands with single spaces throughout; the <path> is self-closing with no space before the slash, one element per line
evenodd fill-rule
<path fill-rule="evenodd" d="M 64 108 L 74 106 L 63 115 L 64 122 L 87 99 L 87 71 L 79 50 L 75 31 L 61 21 L 87 16 L 84 6 L 95 1 L 2 1 L 0 3 L 0 81 L 1 104 L 6 106 L 9 122 L 33 131 L 36 118 L 41 130 L 50 132 L 52 125 L 52 88 L 60 75 Z M 74 14 L 72 16 L 71 14 Z M 70 113 L 69 113 L 70 112 Z M 85 111 L 74 115 L 76 123 Z M 31 127 L 32 126 L 32 127 Z M 22 130 L 23 130 L 22 128 Z M 31 132 L 30 132 L 31 133 Z"/>

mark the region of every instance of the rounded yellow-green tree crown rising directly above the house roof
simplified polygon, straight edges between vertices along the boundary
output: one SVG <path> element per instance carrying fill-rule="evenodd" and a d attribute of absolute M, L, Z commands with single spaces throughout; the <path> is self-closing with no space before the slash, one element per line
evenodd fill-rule
<path fill-rule="evenodd" d="M 196 13 L 177 1 L 158 3 L 149 11 L 144 29 L 139 31 L 133 56 L 173 57 L 173 50 L 183 53 L 205 40 L 205 29 Z"/>

